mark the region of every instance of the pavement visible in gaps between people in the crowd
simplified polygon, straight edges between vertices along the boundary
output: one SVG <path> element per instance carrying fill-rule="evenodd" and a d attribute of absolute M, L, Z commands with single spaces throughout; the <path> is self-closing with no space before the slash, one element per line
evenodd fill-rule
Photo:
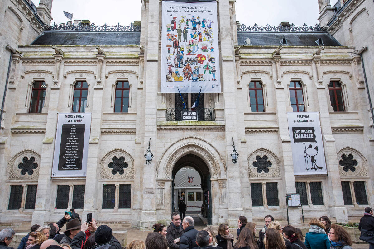
<path fill-rule="evenodd" d="M 197 217 L 196 214 L 191 214 L 190 215 L 193 220 L 195 221 L 195 228 L 197 230 L 203 230 L 204 227 L 206 227 L 206 225 L 203 224 L 202 220 Z M 212 227 L 213 230 L 215 231 L 215 233 L 217 234 L 217 228 L 218 226 L 214 226 Z M 234 238 L 236 238 L 236 228 L 230 228 L 230 231 L 231 233 L 233 234 Z M 145 238 L 147 237 L 147 234 L 150 233 L 152 231 L 139 231 L 139 230 L 135 230 L 135 229 L 129 229 L 127 230 L 127 244 L 129 244 L 132 240 L 145 240 Z M 236 240 L 234 240 L 234 243 L 235 243 Z M 353 244 L 352 245 L 352 248 L 353 249 L 369 249 L 369 245 L 368 244 Z"/>

